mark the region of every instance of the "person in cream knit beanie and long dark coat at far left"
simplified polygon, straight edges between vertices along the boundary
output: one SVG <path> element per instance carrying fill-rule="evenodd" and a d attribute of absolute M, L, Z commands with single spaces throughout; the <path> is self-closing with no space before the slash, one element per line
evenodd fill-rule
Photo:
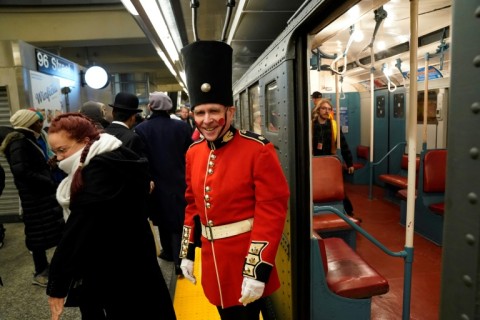
<path fill-rule="evenodd" d="M 10 122 L 14 130 L 6 135 L 0 150 L 7 158 L 20 196 L 25 243 L 35 265 L 32 283 L 46 286 L 46 250 L 58 244 L 64 227 L 62 208 L 55 199 L 57 184 L 37 143 L 43 125 L 38 114 L 32 110 L 18 110 Z"/>

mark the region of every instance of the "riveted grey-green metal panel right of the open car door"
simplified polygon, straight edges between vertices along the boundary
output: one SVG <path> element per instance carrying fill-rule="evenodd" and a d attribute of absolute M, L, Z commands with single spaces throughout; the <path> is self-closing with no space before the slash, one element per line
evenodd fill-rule
<path fill-rule="evenodd" d="M 440 315 L 480 319 L 480 0 L 453 1 Z"/>

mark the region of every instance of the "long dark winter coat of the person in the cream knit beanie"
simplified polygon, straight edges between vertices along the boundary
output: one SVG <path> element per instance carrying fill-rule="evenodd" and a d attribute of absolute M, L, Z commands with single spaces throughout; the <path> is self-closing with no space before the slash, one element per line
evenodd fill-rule
<path fill-rule="evenodd" d="M 5 154 L 18 189 L 29 250 L 57 245 L 62 235 L 63 211 L 56 199 L 57 185 L 33 132 L 15 129 L 5 137 Z"/>

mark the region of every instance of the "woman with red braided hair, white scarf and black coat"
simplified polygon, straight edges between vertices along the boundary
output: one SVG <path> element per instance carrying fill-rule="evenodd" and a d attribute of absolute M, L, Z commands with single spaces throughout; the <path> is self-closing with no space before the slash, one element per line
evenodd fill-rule
<path fill-rule="evenodd" d="M 68 173 L 57 192 L 68 214 L 50 265 L 51 319 L 64 303 L 83 320 L 175 319 L 147 220 L 147 160 L 80 113 L 57 116 L 48 140 Z"/>

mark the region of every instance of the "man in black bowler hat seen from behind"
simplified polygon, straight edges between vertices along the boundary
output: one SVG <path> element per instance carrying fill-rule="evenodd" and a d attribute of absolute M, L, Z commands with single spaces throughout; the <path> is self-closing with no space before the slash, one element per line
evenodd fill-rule
<path fill-rule="evenodd" d="M 136 115 L 142 112 L 142 109 L 138 108 L 137 96 L 119 92 L 115 96 L 115 102 L 109 106 L 113 108 L 113 121 L 105 132 L 117 137 L 125 147 L 144 157 L 145 145 L 138 134 L 131 130 L 136 123 Z"/>

